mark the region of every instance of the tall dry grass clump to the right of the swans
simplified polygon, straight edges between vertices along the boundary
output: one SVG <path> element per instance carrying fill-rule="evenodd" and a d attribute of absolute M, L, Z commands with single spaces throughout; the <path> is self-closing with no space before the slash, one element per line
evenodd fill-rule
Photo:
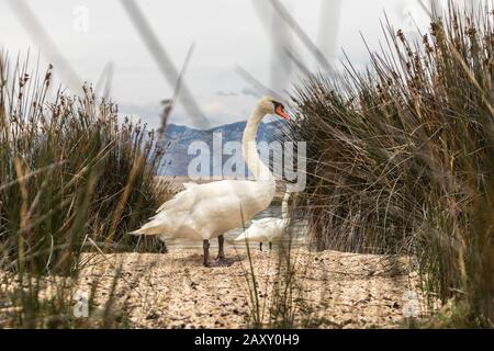
<path fill-rule="evenodd" d="M 492 9 L 450 7 L 422 43 L 385 23 L 367 71 L 348 60 L 293 98 L 312 246 L 411 254 L 428 296 L 482 327 L 494 321 L 493 22 Z"/>

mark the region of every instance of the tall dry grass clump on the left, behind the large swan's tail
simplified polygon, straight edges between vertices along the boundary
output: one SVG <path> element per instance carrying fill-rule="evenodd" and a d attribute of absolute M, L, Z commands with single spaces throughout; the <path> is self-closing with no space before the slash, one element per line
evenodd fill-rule
<path fill-rule="evenodd" d="M 8 63 L 2 54 L 0 324 L 72 327 L 74 286 L 63 282 L 78 275 L 83 252 L 165 249 L 125 236 L 170 195 L 170 184 L 155 180 L 164 149 L 90 87 L 83 97 L 50 94 L 52 67 Z M 54 278 L 61 291 L 48 298 Z"/>

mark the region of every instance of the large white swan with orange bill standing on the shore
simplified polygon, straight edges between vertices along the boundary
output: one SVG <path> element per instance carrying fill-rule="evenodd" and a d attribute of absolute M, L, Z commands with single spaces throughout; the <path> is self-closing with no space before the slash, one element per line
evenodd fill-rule
<path fill-rule="evenodd" d="M 217 237 L 217 259 L 223 260 L 223 234 L 249 222 L 266 210 L 274 196 L 274 177 L 262 163 L 256 145 L 259 124 L 269 114 L 288 120 L 283 104 L 265 97 L 256 104 L 242 140 L 244 159 L 255 181 L 224 180 L 200 185 L 188 183 L 184 191 L 158 208 L 149 223 L 131 234 L 158 235 L 162 239 L 202 239 L 204 265 L 210 265 L 209 240 Z"/>

